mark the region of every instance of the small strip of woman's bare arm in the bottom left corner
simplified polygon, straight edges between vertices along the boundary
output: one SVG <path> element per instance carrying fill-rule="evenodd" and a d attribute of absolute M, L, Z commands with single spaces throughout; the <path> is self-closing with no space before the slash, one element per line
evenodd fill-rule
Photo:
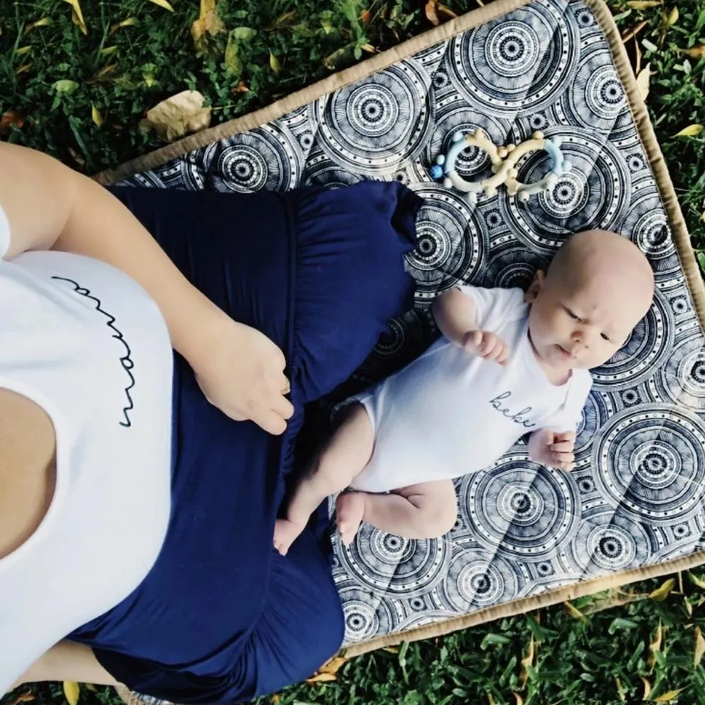
<path fill-rule="evenodd" d="M 45 680 L 74 680 L 78 683 L 117 685 L 117 681 L 101 666 L 91 648 L 74 641 L 59 641 L 22 675 L 13 689 L 24 683 Z"/>

